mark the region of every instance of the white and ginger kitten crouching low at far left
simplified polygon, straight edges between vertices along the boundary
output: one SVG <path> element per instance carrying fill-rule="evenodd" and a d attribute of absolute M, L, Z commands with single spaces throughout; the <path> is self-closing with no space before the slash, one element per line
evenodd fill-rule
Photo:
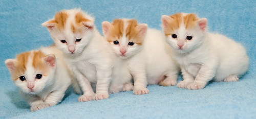
<path fill-rule="evenodd" d="M 52 46 L 5 61 L 13 82 L 30 104 L 31 111 L 56 105 L 71 85 L 72 75 L 61 54 Z"/>

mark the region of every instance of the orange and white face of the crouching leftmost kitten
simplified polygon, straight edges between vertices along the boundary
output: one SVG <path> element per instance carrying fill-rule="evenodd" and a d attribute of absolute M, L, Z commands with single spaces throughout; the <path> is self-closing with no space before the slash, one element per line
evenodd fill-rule
<path fill-rule="evenodd" d="M 15 85 L 25 93 L 37 94 L 52 83 L 55 56 L 31 51 L 5 61 Z"/>

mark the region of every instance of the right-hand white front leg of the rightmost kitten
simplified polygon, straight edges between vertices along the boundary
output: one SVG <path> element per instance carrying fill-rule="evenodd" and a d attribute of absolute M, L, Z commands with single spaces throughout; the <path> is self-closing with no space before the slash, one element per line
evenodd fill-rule
<path fill-rule="evenodd" d="M 202 89 L 214 78 L 217 69 L 217 62 L 211 60 L 208 64 L 203 64 L 195 78 L 195 81 L 187 86 L 187 89 Z"/>

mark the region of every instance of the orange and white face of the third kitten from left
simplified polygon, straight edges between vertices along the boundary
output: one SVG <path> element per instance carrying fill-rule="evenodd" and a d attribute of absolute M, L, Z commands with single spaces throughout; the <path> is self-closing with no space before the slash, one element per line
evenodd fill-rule
<path fill-rule="evenodd" d="M 112 45 L 114 53 L 122 59 L 129 58 L 140 51 L 147 25 L 138 25 L 133 19 L 115 19 L 113 23 L 102 22 L 103 34 Z"/>

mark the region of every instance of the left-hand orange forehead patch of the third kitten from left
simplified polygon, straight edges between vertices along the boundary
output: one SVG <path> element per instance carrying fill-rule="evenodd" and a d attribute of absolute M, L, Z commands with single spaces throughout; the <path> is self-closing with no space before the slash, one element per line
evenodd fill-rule
<path fill-rule="evenodd" d="M 113 27 L 110 28 L 110 33 L 106 37 L 109 42 L 120 38 L 123 35 L 124 21 L 122 19 L 115 19 L 112 23 Z"/>

